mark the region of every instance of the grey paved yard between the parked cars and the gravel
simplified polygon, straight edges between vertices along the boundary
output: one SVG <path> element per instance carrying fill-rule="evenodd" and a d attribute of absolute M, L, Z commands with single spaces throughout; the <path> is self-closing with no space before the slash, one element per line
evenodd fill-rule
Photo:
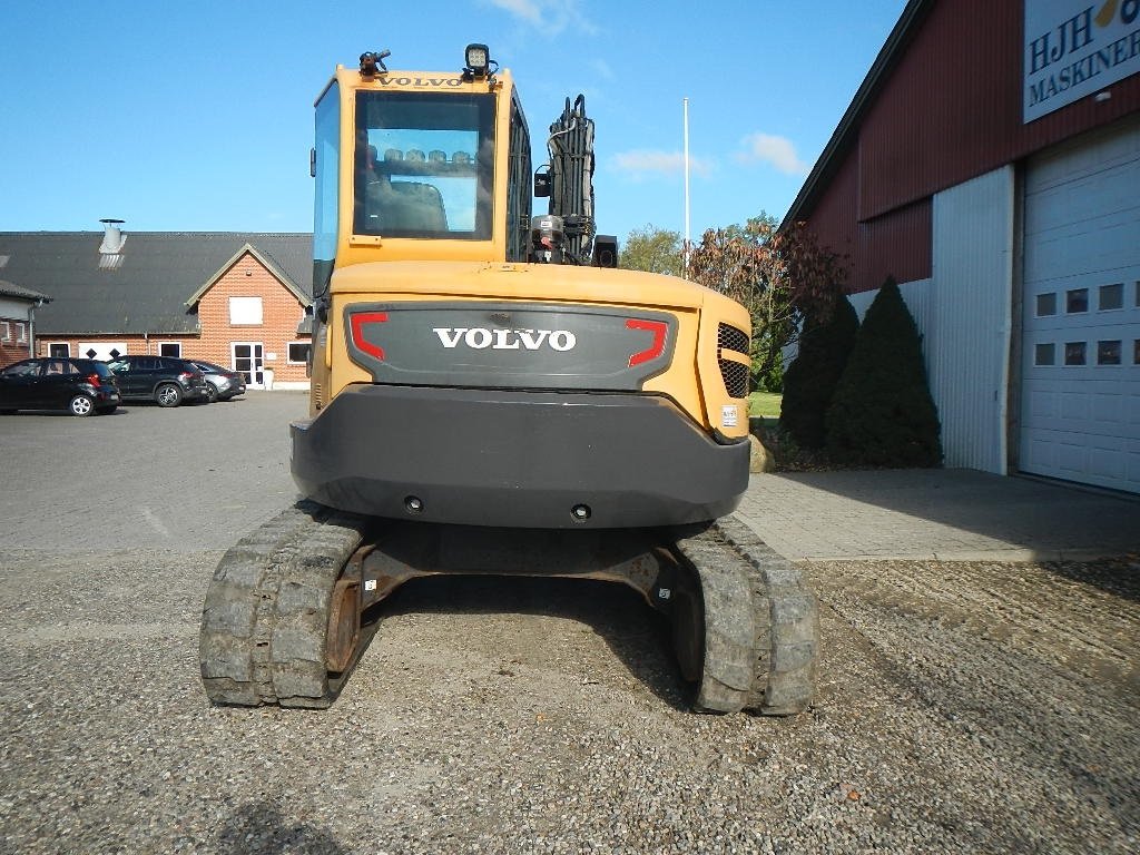
<path fill-rule="evenodd" d="M 288 423 L 308 405 L 302 392 L 250 391 L 89 418 L 3 416 L 0 548 L 59 548 L 67 527 L 82 535 L 74 549 L 225 549 L 296 500 Z"/>

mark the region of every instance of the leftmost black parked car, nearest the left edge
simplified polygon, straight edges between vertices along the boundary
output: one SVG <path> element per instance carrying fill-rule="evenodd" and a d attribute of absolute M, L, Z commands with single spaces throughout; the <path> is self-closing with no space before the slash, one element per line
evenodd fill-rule
<path fill-rule="evenodd" d="M 114 413 L 119 400 L 114 376 L 95 359 L 24 359 L 0 372 L 0 413 L 66 409 L 89 416 Z"/>

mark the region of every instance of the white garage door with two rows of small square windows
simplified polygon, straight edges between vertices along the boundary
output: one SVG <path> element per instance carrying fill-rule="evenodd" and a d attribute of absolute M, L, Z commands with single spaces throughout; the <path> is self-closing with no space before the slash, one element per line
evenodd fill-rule
<path fill-rule="evenodd" d="M 1029 164 L 1020 469 L 1140 492 L 1140 121 Z"/>

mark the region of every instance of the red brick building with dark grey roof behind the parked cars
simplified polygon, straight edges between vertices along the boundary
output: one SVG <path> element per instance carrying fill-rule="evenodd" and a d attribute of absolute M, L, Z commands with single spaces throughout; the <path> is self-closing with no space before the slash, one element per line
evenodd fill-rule
<path fill-rule="evenodd" d="M 36 355 L 180 356 L 243 372 L 253 388 L 308 385 L 310 235 L 111 236 L 0 233 L 0 274 L 52 295 L 36 315 Z"/>

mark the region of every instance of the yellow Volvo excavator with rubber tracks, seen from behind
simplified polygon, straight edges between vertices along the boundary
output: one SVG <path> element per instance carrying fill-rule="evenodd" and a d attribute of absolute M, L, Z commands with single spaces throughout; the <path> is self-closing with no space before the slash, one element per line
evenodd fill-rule
<path fill-rule="evenodd" d="M 699 709 L 812 700 L 815 600 L 730 514 L 747 486 L 747 310 L 617 269 L 594 122 L 532 171 L 511 73 L 337 66 L 316 103 L 304 496 L 227 552 L 203 609 L 215 703 L 327 707 L 405 581 L 626 584 L 671 622 Z M 547 199 L 534 215 L 532 199 Z"/>

